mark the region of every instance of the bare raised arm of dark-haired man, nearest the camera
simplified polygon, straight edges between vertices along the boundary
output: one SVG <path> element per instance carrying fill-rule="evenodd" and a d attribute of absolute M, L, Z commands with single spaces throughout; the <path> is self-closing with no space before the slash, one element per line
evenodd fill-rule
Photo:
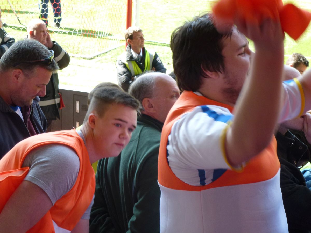
<path fill-rule="evenodd" d="M 260 153 L 272 139 L 280 109 L 284 59 L 284 33 L 279 21 L 237 25 L 254 41 L 256 52 L 225 138 L 226 155 L 233 166 Z"/>

